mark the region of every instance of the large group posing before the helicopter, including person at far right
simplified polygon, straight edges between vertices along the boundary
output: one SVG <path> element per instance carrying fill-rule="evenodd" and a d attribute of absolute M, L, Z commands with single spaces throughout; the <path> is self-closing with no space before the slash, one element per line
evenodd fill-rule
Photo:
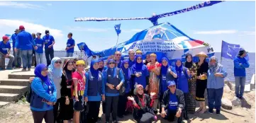
<path fill-rule="evenodd" d="M 245 68 L 249 67 L 246 53 L 241 50 L 234 60 L 235 94 L 241 99 Z M 189 119 L 188 114 L 207 111 L 205 90 L 208 112 L 212 114 L 215 108 L 216 115 L 221 115 L 227 72 L 215 56 L 208 63 L 207 54 L 200 52 L 196 54 L 199 61 L 194 63 L 193 56 L 187 54 L 186 61 L 177 59 L 175 66 L 170 66 L 169 59 L 163 57 L 159 62 L 154 53 L 145 60 L 141 51 L 129 50 L 128 54 L 128 59 L 121 60 L 117 51 L 106 63 L 93 59 L 89 69 L 84 69 L 87 65 L 82 59 L 65 60 L 62 68 L 58 57 L 48 67 L 38 64 L 31 83 L 34 98 L 30 99 L 35 123 L 43 119 L 47 123 L 59 119 L 78 123 L 84 117 L 81 112 L 87 114 L 85 122 L 97 122 L 101 103 L 106 123 L 128 114 L 133 114 L 136 122 L 149 123 L 159 118 L 157 112 L 170 122 L 182 122 L 182 118 Z"/>

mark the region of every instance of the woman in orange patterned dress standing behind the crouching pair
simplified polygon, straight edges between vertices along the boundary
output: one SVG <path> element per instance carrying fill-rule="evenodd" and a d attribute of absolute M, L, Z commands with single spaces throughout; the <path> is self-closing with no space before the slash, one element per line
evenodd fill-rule
<path fill-rule="evenodd" d="M 155 53 L 150 54 L 150 63 L 147 64 L 148 71 L 150 71 L 150 80 L 149 80 L 149 94 L 158 95 L 159 93 L 159 83 L 160 83 L 160 69 L 161 65 L 157 62 L 157 55 Z M 153 109 L 157 113 L 158 100 L 155 100 Z"/>

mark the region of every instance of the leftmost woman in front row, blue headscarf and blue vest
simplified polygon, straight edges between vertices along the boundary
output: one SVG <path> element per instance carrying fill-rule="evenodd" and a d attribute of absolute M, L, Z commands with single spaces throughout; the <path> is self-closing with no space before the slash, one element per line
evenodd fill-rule
<path fill-rule="evenodd" d="M 57 102 L 57 92 L 54 83 L 48 78 L 48 68 L 45 64 L 35 67 L 35 78 L 31 83 L 32 95 L 30 110 L 35 123 L 53 123 L 53 107 Z"/>

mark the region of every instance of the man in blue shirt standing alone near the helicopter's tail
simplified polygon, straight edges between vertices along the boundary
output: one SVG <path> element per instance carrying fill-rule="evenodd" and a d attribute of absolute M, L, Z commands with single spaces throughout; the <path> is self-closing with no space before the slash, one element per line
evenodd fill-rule
<path fill-rule="evenodd" d="M 66 57 L 73 57 L 73 54 L 74 54 L 74 39 L 72 38 L 72 33 L 69 33 L 67 35 L 67 37 L 69 38 L 67 40 L 67 47 L 66 47 L 66 51 L 67 51 L 67 54 L 66 54 Z"/>

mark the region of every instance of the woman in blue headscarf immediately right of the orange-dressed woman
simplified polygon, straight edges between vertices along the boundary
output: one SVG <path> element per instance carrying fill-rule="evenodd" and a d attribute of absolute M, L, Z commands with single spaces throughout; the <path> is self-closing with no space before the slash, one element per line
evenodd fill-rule
<path fill-rule="evenodd" d="M 168 90 L 167 81 L 174 81 L 174 78 L 177 78 L 177 73 L 174 67 L 169 66 L 167 57 L 162 58 L 162 66 L 160 71 L 160 98 L 162 100 L 162 96 L 165 91 Z M 160 108 L 160 112 L 162 112 L 162 108 Z"/>

